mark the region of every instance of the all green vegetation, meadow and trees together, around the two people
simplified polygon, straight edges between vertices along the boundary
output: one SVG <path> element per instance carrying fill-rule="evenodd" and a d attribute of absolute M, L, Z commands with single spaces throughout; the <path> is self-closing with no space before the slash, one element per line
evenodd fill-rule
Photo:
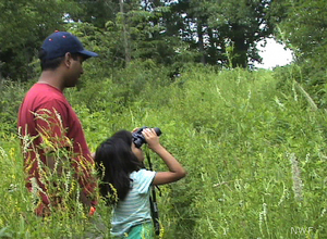
<path fill-rule="evenodd" d="M 68 209 L 77 210 L 36 217 L 24 186 L 16 115 L 40 73 L 37 49 L 55 29 L 100 54 L 65 91 L 92 150 L 121 128 L 160 127 L 186 167 L 186 178 L 161 187 L 162 238 L 327 238 L 326 8 L 323 0 L 1 0 L 0 238 L 98 230 L 76 200 Z M 266 37 L 292 49 L 293 64 L 252 68 Z M 100 201 L 97 212 L 109 227 L 110 209 Z"/>

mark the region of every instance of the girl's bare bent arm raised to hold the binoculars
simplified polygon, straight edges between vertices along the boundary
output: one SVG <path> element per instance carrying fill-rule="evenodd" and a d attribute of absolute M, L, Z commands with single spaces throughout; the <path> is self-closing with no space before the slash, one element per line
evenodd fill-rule
<path fill-rule="evenodd" d="M 148 147 L 155 151 L 166 163 L 169 172 L 158 172 L 154 178 L 153 185 L 165 185 L 177 181 L 186 175 L 183 166 L 169 153 L 159 142 L 159 137 L 153 128 L 145 128 L 142 131 Z"/>

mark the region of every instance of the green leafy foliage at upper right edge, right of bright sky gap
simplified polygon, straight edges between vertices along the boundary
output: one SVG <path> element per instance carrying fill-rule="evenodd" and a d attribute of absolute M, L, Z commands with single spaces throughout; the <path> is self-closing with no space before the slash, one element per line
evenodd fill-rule
<path fill-rule="evenodd" d="M 296 78 L 319 108 L 326 108 L 326 1 L 289 1 L 277 36 L 295 52 L 301 67 Z M 288 71 L 288 70 L 287 70 Z"/>

